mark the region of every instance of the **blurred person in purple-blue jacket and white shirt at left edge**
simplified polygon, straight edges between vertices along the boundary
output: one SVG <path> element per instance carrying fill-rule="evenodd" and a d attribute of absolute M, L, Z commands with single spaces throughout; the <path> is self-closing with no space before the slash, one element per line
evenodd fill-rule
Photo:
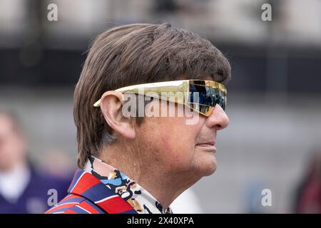
<path fill-rule="evenodd" d="M 16 115 L 0 110 L 0 213 L 42 213 L 66 194 L 69 180 L 36 170 Z M 57 195 L 51 195 L 54 190 Z M 55 194 L 55 193 L 54 193 Z"/>

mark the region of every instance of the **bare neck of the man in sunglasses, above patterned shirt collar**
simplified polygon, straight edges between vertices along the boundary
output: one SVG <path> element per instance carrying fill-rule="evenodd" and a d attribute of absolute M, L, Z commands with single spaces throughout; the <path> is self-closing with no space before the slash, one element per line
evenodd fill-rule
<path fill-rule="evenodd" d="M 197 181 L 185 172 L 167 172 L 157 162 L 144 160 L 142 157 L 145 156 L 133 155 L 139 155 L 139 153 L 108 147 L 100 152 L 99 158 L 141 185 L 165 209 L 178 195 Z"/>

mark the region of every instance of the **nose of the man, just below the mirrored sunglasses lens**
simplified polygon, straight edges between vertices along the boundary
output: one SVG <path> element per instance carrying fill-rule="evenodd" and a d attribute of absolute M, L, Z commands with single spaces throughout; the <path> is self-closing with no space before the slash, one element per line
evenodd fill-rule
<path fill-rule="evenodd" d="M 209 128 L 216 128 L 216 130 L 223 130 L 228 126 L 229 122 L 228 115 L 226 115 L 223 108 L 218 104 L 215 105 L 213 113 L 206 118 L 206 125 L 208 125 Z"/>

